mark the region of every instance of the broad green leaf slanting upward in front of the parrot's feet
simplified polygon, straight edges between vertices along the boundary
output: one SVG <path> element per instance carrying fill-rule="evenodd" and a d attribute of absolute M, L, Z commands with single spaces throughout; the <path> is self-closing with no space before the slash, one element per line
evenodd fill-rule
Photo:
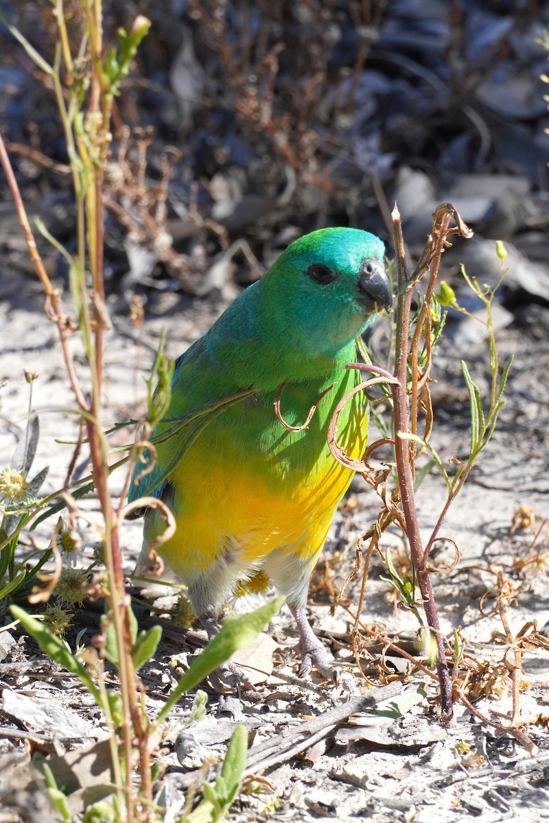
<path fill-rule="evenodd" d="M 213 672 L 221 663 L 225 663 L 238 649 L 249 646 L 257 635 L 265 629 L 272 620 L 272 617 L 280 609 L 284 597 L 275 597 L 271 602 L 265 603 L 247 615 L 230 617 L 221 626 L 216 636 L 210 640 L 202 654 L 193 662 L 191 667 L 179 679 L 164 708 L 158 714 L 155 726 L 162 723 L 170 713 L 171 709 L 179 700 L 181 695 L 198 686 L 205 677 Z"/>

